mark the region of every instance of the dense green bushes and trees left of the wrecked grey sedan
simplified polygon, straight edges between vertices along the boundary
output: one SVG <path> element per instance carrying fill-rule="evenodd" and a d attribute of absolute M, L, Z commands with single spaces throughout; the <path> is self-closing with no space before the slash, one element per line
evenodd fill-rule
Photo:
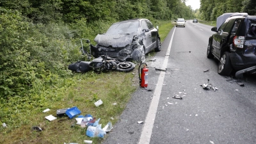
<path fill-rule="evenodd" d="M 180 0 L 2 0 L 0 2 L 0 95 L 40 95 L 70 76 L 67 65 L 83 60 L 79 39 L 104 33 L 113 22 L 135 17 L 189 18 Z M 32 91 L 32 92 L 31 92 Z"/>

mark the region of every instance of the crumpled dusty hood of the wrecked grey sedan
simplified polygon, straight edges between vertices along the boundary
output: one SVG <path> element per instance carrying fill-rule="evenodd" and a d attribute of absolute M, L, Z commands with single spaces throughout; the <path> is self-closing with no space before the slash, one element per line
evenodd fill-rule
<path fill-rule="evenodd" d="M 112 47 L 125 47 L 125 45 L 131 44 L 132 39 L 134 37 L 135 33 L 130 34 L 118 34 L 118 35 L 107 35 L 98 34 L 94 41 L 97 42 L 98 45 L 102 45 L 104 47 L 109 47 L 110 45 Z"/>

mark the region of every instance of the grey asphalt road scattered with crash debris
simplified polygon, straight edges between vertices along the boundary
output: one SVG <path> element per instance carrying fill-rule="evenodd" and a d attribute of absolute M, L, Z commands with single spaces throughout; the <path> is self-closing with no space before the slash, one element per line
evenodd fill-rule
<path fill-rule="evenodd" d="M 170 31 L 148 61 L 152 91 L 138 88 L 103 143 L 256 143 L 256 76 L 240 86 L 218 74 L 206 57 L 211 28 L 188 20 Z M 218 90 L 204 90 L 207 79 Z"/>

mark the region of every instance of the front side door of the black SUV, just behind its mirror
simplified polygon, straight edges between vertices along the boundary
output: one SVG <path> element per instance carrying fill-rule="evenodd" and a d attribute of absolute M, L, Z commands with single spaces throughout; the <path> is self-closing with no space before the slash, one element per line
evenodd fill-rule
<path fill-rule="evenodd" d="M 228 24 L 228 20 L 223 22 L 223 24 L 221 24 L 220 28 L 218 29 L 217 33 L 214 33 L 212 35 L 212 53 L 215 56 L 220 55 L 220 54 L 217 54 L 217 49 L 220 49 L 220 44 L 218 44 L 218 38 L 223 34 L 223 29 L 225 28 L 225 26 L 227 26 L 227 24 Z"/>

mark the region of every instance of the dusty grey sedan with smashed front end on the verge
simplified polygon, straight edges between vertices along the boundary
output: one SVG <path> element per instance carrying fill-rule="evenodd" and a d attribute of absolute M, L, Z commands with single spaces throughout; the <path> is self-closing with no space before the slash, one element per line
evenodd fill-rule
<path fill-rule="evenodd" d="M 91 45 L 95 58 L 106 55 L 122 61 L 145 61 L 145 54 L 161 51 L 158 26 L 154 28 L 148 19 L 130 19 L 116 22 L 108 31 L 97 35 L 97 44 Z"/>

